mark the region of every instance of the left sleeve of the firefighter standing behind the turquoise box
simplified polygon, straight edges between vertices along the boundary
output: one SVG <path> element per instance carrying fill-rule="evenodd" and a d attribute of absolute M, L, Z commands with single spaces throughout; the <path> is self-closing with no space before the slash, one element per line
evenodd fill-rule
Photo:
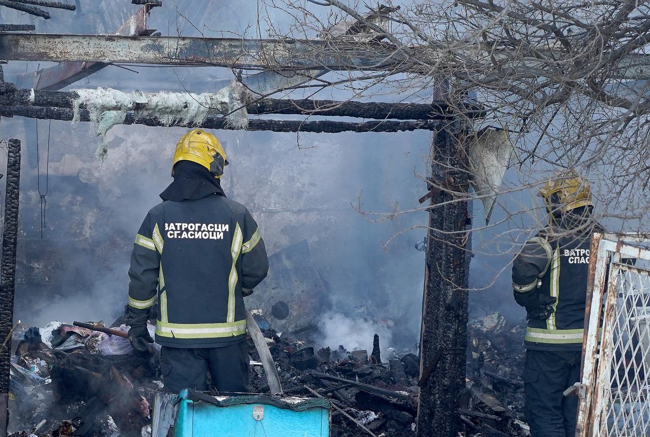
<path fill-rule="evenodd" d="M 153 226 L 152 226 L 153 224 Z M 129 268 L 129 300 L 128 310 L 131 317 L 148 314 L 155 304 L 158 293 L 158 271 L 160 252 L 156 245 L 155 234 L 157 225 L 151 213 L 144 218 L 140 230 L 135 235 L 133 252 L 131 252 L 131 267 Z M 146 318 L 145 318 L 146 320 Z"/>

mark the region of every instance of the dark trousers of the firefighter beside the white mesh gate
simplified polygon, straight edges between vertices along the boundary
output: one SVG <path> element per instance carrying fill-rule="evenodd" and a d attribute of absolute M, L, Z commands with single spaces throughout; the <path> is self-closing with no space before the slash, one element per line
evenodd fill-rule
<path fill-rule="evenodd" d="M 564 390 L 580 380 L 582 352 L 526 350 L 524 414 L 532 437 L 574 437 L 578 397 Z"/>

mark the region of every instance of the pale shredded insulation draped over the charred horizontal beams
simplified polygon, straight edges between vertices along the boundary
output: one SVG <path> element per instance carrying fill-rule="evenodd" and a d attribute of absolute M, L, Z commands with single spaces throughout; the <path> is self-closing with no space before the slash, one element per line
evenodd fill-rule
<path fill-rule="evenodd" d="M 79 108 L 85 107 L 96 124 L 99 137 L 97 155 L 107 157 L 106 134 L 133 111 L 136 118 L 157 118 L 164 126 L 199 126 L 207 116 L 221 114 L 233 129 L 248 127 L 248 92 L 237 81 L 216 93 L 122 92 L 112 88 L 77 89 L 73 101 L 73 123 L 79 122 Z"/>

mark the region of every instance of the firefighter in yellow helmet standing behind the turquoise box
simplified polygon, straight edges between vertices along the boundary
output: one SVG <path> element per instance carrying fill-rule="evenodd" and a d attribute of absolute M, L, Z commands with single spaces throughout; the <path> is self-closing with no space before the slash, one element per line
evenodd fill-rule
<path fill-rule="evenodd" d="M 244 296 L 266 277 L 268 259 L 252 215 L 221 187 L 227 164 L 211 133 L 183 135 L 174 181 L 135 237 L 129 340 L 148 349 L 149 311 L 159 302 L 155 339 L 166 391 L 207 390 L 207 371 L 221 393 L 250 391 Z"/>

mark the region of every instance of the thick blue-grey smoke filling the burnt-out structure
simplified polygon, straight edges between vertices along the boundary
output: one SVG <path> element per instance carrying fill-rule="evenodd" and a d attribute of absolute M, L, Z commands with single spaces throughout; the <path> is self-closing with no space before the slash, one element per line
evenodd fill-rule
<path fill-rule="evenodd" d="M 239 3 L 235 8 L 228 2 L 165 1 L 163 8 L 151 12 L 149 27 L 163 35 L 233 36 L 257 17 L 254 2 Z M 136 10 L 109 1 L 93 8 L 85 10 L 82 5 L 74 14 L 56 11 L 52 20 L 38 21 L 37 30 L 110 33 Z M 109 13 L 95 12 L 101 10 Z M 272 14 L 270 21 L 285 29 L 291 24 L 279 10 L 262 13 Z M 28 20 L 18 14 L 15 18 L 9 21 Z M 253 33 L 248 36 L 263 38 L 266 29 Z M 16 81 L 17 73 L 36 68 L 34 62 L 12 62 L 5 68 L 6 78 Z M 200 93 L 216 92 L 232 79 L 230 70 L 220 68 L 129 68 L 138 73 L 109 66 L 74 87 Z M 26 81 L 18 85 L 31 86 Z M 315 97 L 350 98 L 343 90 Z M 48 126 L 47 121 L 39 124 L 37 164 L 34 120 L 3 118 L 2 124 L 3 138 L 23 140 L 16 319 L 32 325 L 53 319 L 109 322 L 125 304 L 133 237 L 171 180 L 173 148 L 186 129 L 115 126 L 107 135 L 109 157 L 101 163 L 94 157 L 99 140 L 90 126 L 52 122 L 49 137 Z M 417 199 L 426 187 L 419 175 L 427 171 L 430 132 L 214 133 L 226 144 L 231 161 L 223 179 L 227 195 L 252 211 L 270 256 L 281 261 L 248 301 L 250 306 L 268 313 L 274 302 L 291 293 L 317 296 L 302 299 L 318 302 L 302 316 L 326 328 L 324 341 L 331 347 L 343 344 L 353 349 L 354 341 L 369 349 L 375 332 L 382 336 L 383 347 L 408 349 L 417 343 L 424 254 L 414 245 L 426 236 L 427 214 L 422 210 L 391 214 L 421 207 Z M 38 179 L 42 193 L 48 172 L 41 239 Z M 511 169 L 506 182 L 518 187 L 525 181 Z M 509 263 L 527 237 L 521 230 L 543 217 L 533 214 L 513 221 L 508 220 L 508 211 L 534 205 L 532 198 L 532 191 L 500 196 L 491 219 L 496 225 L 474 233 L 470 285 L 478 291 L 471 294 L 473 315 L 499 310 L 523 319 L 523 311 L 512 302 Z M 484 218 L 480 202 L 474 204 L 476 225 Z M 308 256 L 297 260 L 287 256 L 296 245 Z M 315 289 L 300 287 L 301 280 L 307 282 L 303 272 L 318 276 L 318 281 L 310 282 Z M 353 339 L 349 330 L 333 330 L 332 325 L 365 329 L 355 329 L 359 336 Z"/>

